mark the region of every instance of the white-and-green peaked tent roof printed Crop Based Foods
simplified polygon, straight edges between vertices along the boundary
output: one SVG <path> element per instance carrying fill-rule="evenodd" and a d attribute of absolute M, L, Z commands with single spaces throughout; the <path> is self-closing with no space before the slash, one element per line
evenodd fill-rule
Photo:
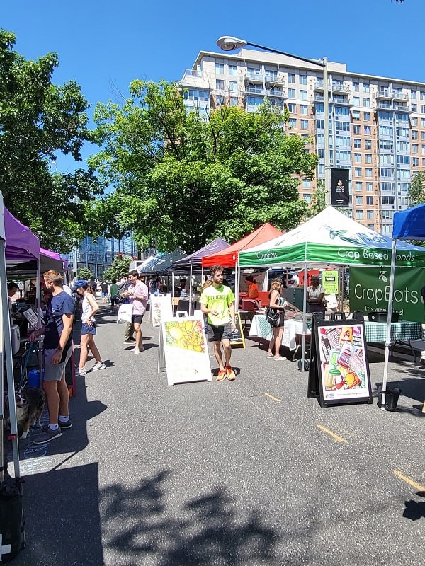
<path fill-rule="evenodd" d="M 242 250 L 239 265 L 276 267 L 303 262 L 390 265 L 392 239 L 327 207 L 296 229 L 261 246 Z M 425 248 L 399 242 L 397 265 L 425 266 Z"/>

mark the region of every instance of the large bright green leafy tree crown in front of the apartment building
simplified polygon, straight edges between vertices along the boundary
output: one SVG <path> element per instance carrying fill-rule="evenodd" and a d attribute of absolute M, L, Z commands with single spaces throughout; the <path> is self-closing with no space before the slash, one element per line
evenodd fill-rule
<path fill-rule="evenodd" d="M 186 112 L 174 84 L 133 81 L 123 108 L 98 104 L 97 141 L 89 163 L 115 192 L 96 202 L 107 236 L 132 230 L 140 246 L 186 252 L 221 236 L 236 241 L 266 221 L 299 224 L 307 204 L 300 178 L 317 156 L 288 136 L 288 113 L 265 99 L 258 112 L 223 107 L 208 120 Z"/>

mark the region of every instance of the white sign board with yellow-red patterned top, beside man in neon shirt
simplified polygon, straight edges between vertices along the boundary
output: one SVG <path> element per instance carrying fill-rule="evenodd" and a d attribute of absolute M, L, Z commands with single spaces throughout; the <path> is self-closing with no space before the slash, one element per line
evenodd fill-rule
<path fill-rule="evenodd" d="M 169 385 L 212 380 L 203 320 L 194 316 L 163 318 L 162 343 Z"/>

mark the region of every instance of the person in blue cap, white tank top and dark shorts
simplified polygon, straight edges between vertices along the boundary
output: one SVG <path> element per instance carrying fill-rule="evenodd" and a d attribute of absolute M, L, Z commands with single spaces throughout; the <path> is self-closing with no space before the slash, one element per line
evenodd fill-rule
<path fill-rule="evenodd" d="M 83 297 L 82 313 L 81 313 L 81 342 L 80 342 L 80 360 L 79 366 L 75 371 L 75 375 L 85 376 L 87 373 L 86 361 L 88 349 L 90 348 L 91 353 L 96 359 L 96 364 L 91 368 L 91 371 L 98 371 L 99 369 L 105 369 L 106 365 L 103 364 L 101 354 L 98 351 L 98 347 L 94 343 L 94 337 L 96 336 L 96 318 L 94 315 L 99 310 L 96 298 L 94 296 L 93 285 L 89 285 L 84 279 L 79 279 L 72 287 L 74 291 L 77 291 L 79 295 Z"/>

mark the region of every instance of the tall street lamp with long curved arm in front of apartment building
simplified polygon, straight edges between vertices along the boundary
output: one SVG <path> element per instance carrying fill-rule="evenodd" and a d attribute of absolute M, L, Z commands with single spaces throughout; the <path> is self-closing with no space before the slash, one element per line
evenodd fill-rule
<path fill-rule="evenodd" d="M 258 47 L 259 49 L 262 49 L 264 51 L 277 53 L 278 55 L 286 55 L 287 57 L 293 57 L 294 59 L 300 59 L 300 61 L 305 61 L 307 63 L 312 63 L 314 65 L 322 67 L 324 109 L 324 202 L 327 206 L 328 204 L 331 204 L 331 151 L 329 146 L 329 86 L 327 77 L 327 57 L 323 57 L 321 61 L 306 59 L 305 57 L 285 53 L 284 51 L 272 49 L 271 47 L 256 45 L 256 43 L 241 40 L 239 39 L 239 37 L 232 37 L 231 35 L 223 35 L 222 37 L 219 37 L 217 39 L 217 45 L 222 51 L 233 51 L 235 49 L 242 49 L 242 47 L 246 47 L 246 45 L 251 45 L 251 47 Z"/>

